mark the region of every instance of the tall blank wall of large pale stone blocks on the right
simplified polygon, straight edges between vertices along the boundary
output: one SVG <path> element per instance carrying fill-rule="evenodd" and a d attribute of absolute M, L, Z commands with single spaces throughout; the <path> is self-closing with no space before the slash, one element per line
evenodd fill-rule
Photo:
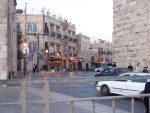
<path fill-rule="evenodd" d="M 114 60 L 119 67 L 150 66 L 150 1 L 113 1 Z"/>

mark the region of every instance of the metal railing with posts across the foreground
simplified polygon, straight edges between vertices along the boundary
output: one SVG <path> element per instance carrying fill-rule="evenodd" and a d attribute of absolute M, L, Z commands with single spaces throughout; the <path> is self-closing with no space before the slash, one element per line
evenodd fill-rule
<path fill-rule="evenodd" d="M 111 97 L 94 97 L 94 98 L 82 98 L 82 99 L 71 99 L 65 101 L 50 101 L 49 97 L 49 85 L 56 83 L 75 83 L 75 82 L 96 82 L 96 81 L 108 81 L 108 80 L 133 80 L 133 79 L 150 79 L 148 76 L 134 76 L 134 77 L 94 77 L 94 78 L 54 78 L 54 79 L 23 79 L 23 80 L 1 80 L 1 86 L 20 86 L 20 101 L 12 102 L 12 103 L 0 103 L 0 106 L 10 106 L 10 105 L 19 105 L 21 113 L 27 113 L 27 105 L 28 104 L 43 104 L 43 113 L 50 113 L 50 103 L 70 103 L 70 113 L 74 113 L 74 103 L 75 102 L 83 102 L 83 101 L 91 101 L 92 103 L 92 113 L 96 113 L 95 111 L 95 103 L 97 100 L 112 100 L 112 113 L 116 113 L 116 99 L 120 98 L 131 98 L 131 113 L 134 112 L 134 99 L 136 97 L 144 97 L 149 96 L 150 94 L 140 94 L 140 95 L 129 95 L 129 96 L 111 96 Z M 26 87 L 34 85 L 34 84 L 42 84 L 43 85 L 43 100 L 42 101 L 26 101 Z M 150 104 L 149 104 L 150 105 Z"/>

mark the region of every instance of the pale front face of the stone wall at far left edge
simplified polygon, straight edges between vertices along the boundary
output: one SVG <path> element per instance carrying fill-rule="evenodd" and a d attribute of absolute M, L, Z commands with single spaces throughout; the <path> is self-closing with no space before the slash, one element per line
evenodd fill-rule
<path fill-rule="evenodd" d="M 7 35 L 7 0 L 0 0 L 0 79 L 4 79 L 7 75 L 7 53 L 8 53 L 8 35 Z"/>

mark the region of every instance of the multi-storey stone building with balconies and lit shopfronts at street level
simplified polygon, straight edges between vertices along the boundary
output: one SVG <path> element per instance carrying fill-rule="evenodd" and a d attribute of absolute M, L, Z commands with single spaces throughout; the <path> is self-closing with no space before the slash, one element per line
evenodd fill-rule
<path fill-rule="evenodd" d="M 32 71 L 33 64 L 39 70 L 77 69 L 74 24 L 42 11 L 41 14 L 17 14 L 17 29 L 22 32 L 23 41 L 26 39 L 28 43 L 28 71 Z M 46 48 L 49 54 L 45 54 Z"/>

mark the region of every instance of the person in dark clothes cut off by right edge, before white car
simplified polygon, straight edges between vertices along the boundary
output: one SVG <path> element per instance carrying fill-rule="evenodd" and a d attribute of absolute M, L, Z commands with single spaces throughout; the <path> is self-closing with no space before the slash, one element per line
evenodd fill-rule
<path fill-rule="evenodd" d="M 150 81 L 145 84 L 144 94 L 150 93 Z M 149 97 L 144 97 L 145 113 L 149 113 Z"/>

